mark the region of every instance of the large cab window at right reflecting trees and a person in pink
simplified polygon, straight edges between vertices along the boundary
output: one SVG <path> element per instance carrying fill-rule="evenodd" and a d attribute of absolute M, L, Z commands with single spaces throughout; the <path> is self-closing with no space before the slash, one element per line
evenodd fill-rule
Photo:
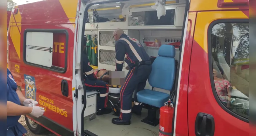
<path fill-rule="evenodd" d="M 248 120 L 249 23 L 241 21 L 217 20 L 210 25 L 210 77 L 219 105 L 233 116 Z"/>

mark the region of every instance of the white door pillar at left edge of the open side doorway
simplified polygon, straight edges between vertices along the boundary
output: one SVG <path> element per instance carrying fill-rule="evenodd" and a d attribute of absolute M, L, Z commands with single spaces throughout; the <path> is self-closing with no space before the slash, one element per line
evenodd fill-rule
<path fill-rule="evenodd" d="M 73 110 L 76 110 L 76 112 L 73 111 L 73 113 L 76 115 L 76 134 L 84 136 L 89 135 L 87 132 L 84 132 L 84 114 L 86 113 L 86 88 L 84 85 L 83 79 L 83 58 L 81 57 L 83 53 L 83 47 L 84 45 L 84 30 L 85 30 L 85 22 L 88 17 L 87 11 L 90 6 L 94 4 L 104 4 L 104 3 L 110 3 L 110 2 L 120 2 L 120 1 L 129 1 L 129 0 L 82 0 L 82 2 L 79 4 L 79 8 L 77 9 L 78 16 L 76 17 L 76 58 L 75 58 L 75 80 L 76 80 L 76 92 L 73 91 L 73 94 L 76 98 L 73 99 L 73 101 L 76 103 L 76 107 L 73 107 Z M 73 118 L 74 119 L 74 118 Z"/>

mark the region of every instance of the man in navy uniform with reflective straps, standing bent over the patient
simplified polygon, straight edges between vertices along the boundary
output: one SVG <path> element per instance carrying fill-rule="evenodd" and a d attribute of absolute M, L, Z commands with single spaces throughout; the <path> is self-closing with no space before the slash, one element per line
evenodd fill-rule
<path fill-rule="evenodd" d="M 134 94 L 134 106 L 131 109 L 133 91 L 140 91 L 145 88 L 146 81 L 152 70 L 150 56 L 140 42 L 127 36 L 122 29 L 116 29 L 113 33 L 116 41 L 116 71 L 122 71 L 124 61 L 129 69 L 124 85 L 120 88 L 121 111 L 119 118 L 113 118 L 112 123 L 129 125 L 131 122 L 131 111 L 141 115 L 141 104 Z M 126 55 L 126 57 L 125 57 Z"/>

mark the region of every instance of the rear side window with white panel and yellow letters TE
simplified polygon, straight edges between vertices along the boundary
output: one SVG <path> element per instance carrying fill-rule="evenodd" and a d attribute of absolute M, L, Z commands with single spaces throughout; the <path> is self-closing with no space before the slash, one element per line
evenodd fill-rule
<path fill-rule="evenodd" d="M 25 30 L 24 62 L 56 72 L 65 72 L 66 30 Z"/>

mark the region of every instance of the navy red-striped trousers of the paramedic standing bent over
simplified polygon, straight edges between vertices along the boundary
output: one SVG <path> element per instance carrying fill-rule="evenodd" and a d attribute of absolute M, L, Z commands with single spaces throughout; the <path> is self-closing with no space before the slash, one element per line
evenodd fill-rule
<path fill-rule="evenodd" d="M 146 81 L 151 70 L 152 65 L 141 65 L 138 68 L 132 68 L 129 70 L 126 75 L 125 84 L 120 88 L 121 113 L 119 119 L 125 121 L 131 120 L 131 101 L 133 91 L 135 89 L 139 91 L 145 88 Z M 136 94 L 134 94 L 134 96 L 136 96 Z M 134 98 L 136 99 L 136 97 Z"/>

